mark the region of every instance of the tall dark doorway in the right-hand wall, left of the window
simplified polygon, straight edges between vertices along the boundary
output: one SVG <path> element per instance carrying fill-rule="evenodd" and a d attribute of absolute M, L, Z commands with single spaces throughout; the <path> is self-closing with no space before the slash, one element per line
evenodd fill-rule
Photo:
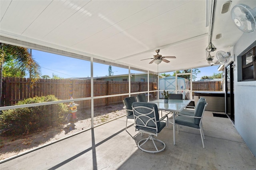
<path fill-rule="evenodd" d="M 226 114 L 235 123 L 234 115 L 234 62 L 231 62 L 225 68 L 225 93 L 226 93 Z"/>

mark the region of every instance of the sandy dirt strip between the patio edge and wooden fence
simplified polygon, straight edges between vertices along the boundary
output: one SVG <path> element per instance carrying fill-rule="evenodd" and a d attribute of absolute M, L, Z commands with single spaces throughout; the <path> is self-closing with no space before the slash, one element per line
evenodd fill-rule
<path fill-rule="evenodd" d="M 100 106 L 94 108 L 94 125 L 99 125 L 116 117 L 126 115 L 123 104 Z M 65 136 L 74 134 L 91 127 L 90 110 L 76 112 L 77 121 L 75 127 L 70 128 L 70 123 L 59 127 L 49 127 L 46 130 L 38 130 L 33 134 L 24 134 L 15 137 L 0 138 L 0 160 L 15 156 L 32 148 L 42 146 Z"/>

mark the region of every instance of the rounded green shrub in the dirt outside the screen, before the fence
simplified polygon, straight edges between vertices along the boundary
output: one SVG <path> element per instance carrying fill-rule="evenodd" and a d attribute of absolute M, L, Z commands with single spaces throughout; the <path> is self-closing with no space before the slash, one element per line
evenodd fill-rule
<path fill-rule="evenodd" d="M 54 95 L 33 97 L 19 101 L 17 105 L 58 101 Z M 63 124 L 68 114 L 64 103 L 10 109 L 0 115 L 0 129 L 7 130 L 4 135 L 29 133 L 39 128 L 56 127 Z"/>

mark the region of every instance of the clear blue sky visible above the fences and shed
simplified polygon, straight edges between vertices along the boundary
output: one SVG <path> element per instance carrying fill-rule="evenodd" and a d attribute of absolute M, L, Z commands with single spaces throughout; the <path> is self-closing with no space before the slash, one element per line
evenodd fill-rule
<path fill-rule="evenodd" d="M 41 66 L 42 75 L 52 77 L 52 74 L 58 75 L 62 78 L 70 77 L 90 77 L 90 61 L 46 53 L 43 51 L 32 50 L 32 57 Z M 108 75 L 109 65 L 94 63 L 94 77 L 102 77 Z M 210 67 L 199 68 L 201 73 L 196 77 L 200 79 L 204 75 L 213 75 L 218 72 L 218 65 Z M 114 75 L 128 74 L 128 69 L 112 66 Z M 131 70 L 131 73 L 138 73 L 138 71 Z"/>

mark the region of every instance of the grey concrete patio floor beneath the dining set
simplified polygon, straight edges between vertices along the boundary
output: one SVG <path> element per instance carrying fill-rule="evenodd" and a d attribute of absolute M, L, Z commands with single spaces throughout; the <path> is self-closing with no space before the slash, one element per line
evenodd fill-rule
<path fill-rule="evenodd" d="M 215 112 L 216 113 L 216 112 Z M 224 113 L 223 113 L 224 114 Z M 205 111 L 203 118 L 205 148 L 199 130 L 180 127 L 173 144 L 172 125 L 156 137 L 166 144 L 159 153 L 138 149 L 132 120 L 125 131 L 126 117 L 56 142 L 0 164 L 1 170 L 142 170 L 142 169 L 209 169 L 256 170 L 256 158 L 228 118 L 213 117 Z M 177 128 L 176 128 L 177 129 Z"/>

